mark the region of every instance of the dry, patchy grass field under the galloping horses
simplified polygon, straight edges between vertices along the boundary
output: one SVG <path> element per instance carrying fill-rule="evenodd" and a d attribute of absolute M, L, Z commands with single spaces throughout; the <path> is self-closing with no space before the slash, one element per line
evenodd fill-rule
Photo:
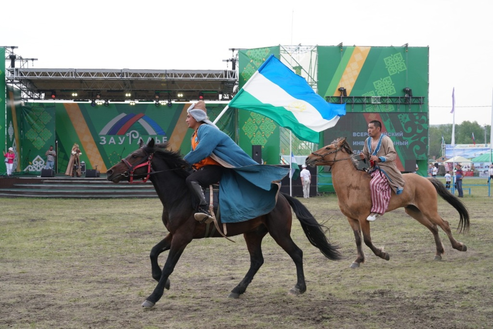
<path fill-rule="evenodd" d="M 0 329 L 161 328 L 492 328 L 493 199 L 463 198 L 471 214 L 467 234 L 443 231 L 442 261 L 433 261 L 431 233 L 403 209 L 371 224 L 372 239 L 390 260 L 364 247 L 357 269 L 352 230 L 334 195 L 301 199 L 343 260 L 329 261 L 293 220 L 291 236 L 304 252 L 307 292 L 288 296 L 294 263 L 266 236 L 265 263 L 246 293 L 227 298 L 243 278 L 249 256 L 242 236 L 194 240 L 171 275 L 171 290 L 150 309 L 155 287 L 149 251 L 166 230 L 162 206 L 148 199 L 2 198 L 0 218 Z M 455 229 L 457 212 L 439 201 Z M 160 257 L 162 265 L 167 252 Z"/>

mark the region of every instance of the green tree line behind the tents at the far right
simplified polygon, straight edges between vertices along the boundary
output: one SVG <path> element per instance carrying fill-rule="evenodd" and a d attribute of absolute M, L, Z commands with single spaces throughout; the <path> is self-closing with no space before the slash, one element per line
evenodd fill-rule
<path fill-rule="evenodd" d="M 486 138 L 485 138 L 486 129 Z M 472 134 L 476 144 L 490 143 L 491 125 L 480 126 L 477 121 L 464 121 L 456 124 L 456 144 L 473 144 Z M 445 144 L 452 143 L 452 124 L 429 126 L 429 156 L 439 158 L 442 156 L 442 136 Z"/>

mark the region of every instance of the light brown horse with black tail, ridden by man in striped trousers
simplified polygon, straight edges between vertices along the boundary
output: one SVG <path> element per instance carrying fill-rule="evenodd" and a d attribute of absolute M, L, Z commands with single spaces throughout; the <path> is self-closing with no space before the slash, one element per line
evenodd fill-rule
<path fill-rule="evenodd" d="M 306 165 L 329 165 L 332 168 L 332 184 L 339 200 L 339 208 L 347 216 L 354 232 L 358 257 L 351 267 L 359 267 L 364 263 L 365 255 L 361 249 L 361 232 L 365 244 L 375 255 L 389 260 L 387 252 L 375 247 L 370 237 L 370 223 L 366 217 L 370 214 L 370 180 L 371 176 L 358 169 L 357 161 L 346 138 L 340 137 L 332 144 L 316 152 L 312 152 L 306 159 Z M 459 251 L 466 251 L 466 246 L 458 242 L 450 230 L 449 223 L 438 215 L 437 194 L 450 203 L 459 213 L 458 230 L 469 230 L 469 213 L 458 197 L 451 194 L 443 184 L 435 178 L 424 178 L 414 173 L 404 174 L 404 191 L 400 195 L 391 192 L 387 212 L 404 207 L 406 213 L 423 224 L 433 233 L 436 243 L 435 260 L 441 260 L 443 249 L 442 241 L 438 236 L 438 228 L 447 233 L 452 247 Z"/>

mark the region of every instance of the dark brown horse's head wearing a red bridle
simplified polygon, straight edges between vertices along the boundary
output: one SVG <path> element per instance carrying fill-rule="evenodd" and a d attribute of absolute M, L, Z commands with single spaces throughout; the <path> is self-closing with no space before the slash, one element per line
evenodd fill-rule
<path fill-rule="evenodd" d="M 154 138 L 151 138 L 147 145 L 144 145 L 141 139 L 137 150 L 106 171 L 107 180 L 118 183 L 122 179 L 133 182 L 134 178 L 141 178 L 146 181 L 151 171 L 153 149 Z"/>

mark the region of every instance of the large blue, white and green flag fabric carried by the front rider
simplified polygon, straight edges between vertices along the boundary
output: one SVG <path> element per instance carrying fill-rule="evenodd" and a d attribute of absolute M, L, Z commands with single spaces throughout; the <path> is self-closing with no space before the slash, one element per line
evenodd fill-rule
<path fill-rule="evenodd" d="M 274 55 L 253 73 L 228 106 L 262 114 L 313 143 L 319 142 L 319 132 L 334 127 L 346 114 L 346 103 L 325 101 Z"/>

